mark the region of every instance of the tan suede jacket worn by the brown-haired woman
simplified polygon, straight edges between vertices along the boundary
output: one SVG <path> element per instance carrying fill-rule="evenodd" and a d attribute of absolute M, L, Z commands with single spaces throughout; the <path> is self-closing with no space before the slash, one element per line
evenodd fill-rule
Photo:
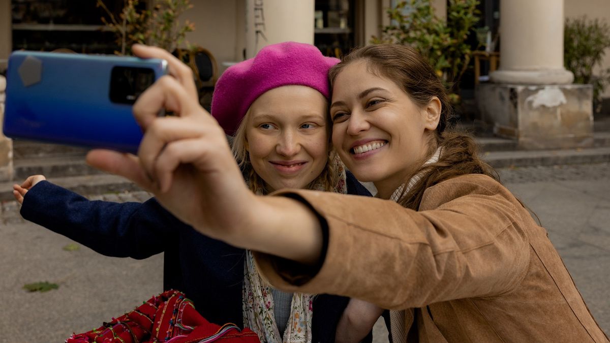
<path fill-rule="evenodd" d="M 430 187 L 419 211 L 388 200 L 289 190 L 328 223 L 314 276 L 257 254 L 289 292 L 361 298 L 404 309 L 407 342 L 608 342 L 547 237 L 492 178 Z"/>

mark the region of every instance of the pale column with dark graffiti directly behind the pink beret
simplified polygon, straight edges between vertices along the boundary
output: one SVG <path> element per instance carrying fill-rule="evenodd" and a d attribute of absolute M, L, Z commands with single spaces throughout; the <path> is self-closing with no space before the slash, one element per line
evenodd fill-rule
<path fill-rule="evenodd" d="M 246 58 L 266 45 L 314 43 L 314 0 L 246 0 Z"/>

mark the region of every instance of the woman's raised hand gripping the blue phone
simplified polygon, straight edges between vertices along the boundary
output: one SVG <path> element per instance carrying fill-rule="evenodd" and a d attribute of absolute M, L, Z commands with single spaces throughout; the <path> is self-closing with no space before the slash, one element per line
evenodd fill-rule
<path fill-rule="evenodd" d="M 168 61 L 168 74 L 138 98 L 134 115 L 145 132 L 137 156 L 92 150 L 93 167 L 131 179 L 176 217 L 220 238 L 251 211 L 253 193 L 218 122 L 201 105 L 193 73 L 159 48 L 134 46 L 134 54 Z M 158 117 L 160 109 L 176 115 Z M 245 220 L 245 222 L 244 222 Z M 243 225 L 242 225 L 243 226 Z"/>

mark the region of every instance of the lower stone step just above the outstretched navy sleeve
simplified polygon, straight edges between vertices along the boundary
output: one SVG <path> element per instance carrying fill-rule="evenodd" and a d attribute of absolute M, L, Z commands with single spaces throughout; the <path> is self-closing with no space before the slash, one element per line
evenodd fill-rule
<path fill-rule="evenodd" d="M 72 190 L 81 195 L 102 195 L 107 193 L 135 192 L 142 190 L 133 182 L 116 175 L 97 174 L 68 176 L 64 178 L 47 178 L 59 186 Z M 12 201 L 13 184 L 23 182 L 22 179 L 15 182 L 0 183 L 0 201 Z"/>

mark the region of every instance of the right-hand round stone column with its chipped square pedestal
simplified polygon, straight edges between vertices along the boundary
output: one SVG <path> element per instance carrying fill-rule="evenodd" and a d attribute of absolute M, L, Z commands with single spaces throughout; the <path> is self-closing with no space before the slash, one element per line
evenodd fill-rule
<path fill-rule="evenodd" d="M 476 86 L 481 117 L 523 149 L 593 145 L 592 87 L 564 68 L 564 2 L 500 2 L 500 68 Z"/>

